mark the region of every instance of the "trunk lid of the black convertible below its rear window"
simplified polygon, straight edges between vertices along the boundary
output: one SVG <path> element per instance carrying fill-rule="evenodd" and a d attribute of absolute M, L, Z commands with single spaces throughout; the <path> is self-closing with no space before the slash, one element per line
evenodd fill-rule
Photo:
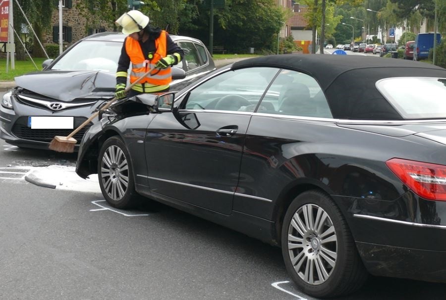
<path fill-rule="evenodd" d="M 413 124 L 337 124 L 339 127 L 362 130 L 390 137 L 415 135 L 446 145 L 446 123 L 413 123 Z"/>

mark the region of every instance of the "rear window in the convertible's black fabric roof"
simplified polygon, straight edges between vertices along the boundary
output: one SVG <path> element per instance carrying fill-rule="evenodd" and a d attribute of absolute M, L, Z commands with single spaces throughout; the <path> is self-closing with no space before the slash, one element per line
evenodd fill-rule
<path fill-rule="evenodd" d="M 446 118 L 446 78 L 387 78 L 376 86 L 404 119 Z"/>

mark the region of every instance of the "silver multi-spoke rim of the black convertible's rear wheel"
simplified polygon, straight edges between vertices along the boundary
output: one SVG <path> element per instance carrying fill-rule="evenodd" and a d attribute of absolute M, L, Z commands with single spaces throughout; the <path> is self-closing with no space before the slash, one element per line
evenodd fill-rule
<path fill-rule="evenodd" d="M 297 275 L 319 285 L 332 274 L 337 258 L 335 227 L 327 212 L 305 204 L 293 215 L 288 227 L 288 253 Z"/>

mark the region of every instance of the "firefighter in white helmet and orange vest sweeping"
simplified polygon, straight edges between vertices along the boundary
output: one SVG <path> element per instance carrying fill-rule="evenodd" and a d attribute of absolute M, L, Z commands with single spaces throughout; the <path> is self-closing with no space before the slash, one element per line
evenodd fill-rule
<path fill-rule="evenodd" d="M 115 97 L 122 99 L 142 93 L 167 92 L 172 81 L 170 67 L 181 61 L 184 51 L 172 42 L 165 30 L 149 25 L 149 17 L 130 10 L 116 20 L 122 33 L 128 35 L 122 45 L 116 70 Z M 155 69 L 125 95 L 130 62 L 130 84 L 151 68 Z"/>

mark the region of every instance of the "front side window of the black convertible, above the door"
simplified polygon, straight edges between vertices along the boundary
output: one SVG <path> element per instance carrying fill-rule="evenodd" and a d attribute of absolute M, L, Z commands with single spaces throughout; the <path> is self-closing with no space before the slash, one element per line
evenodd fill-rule
<path fill-rule="evenodd" d="M 193 89 L 181 108 L 254 111 L 278 71 L 277 68 L 229 70 Z"/>

